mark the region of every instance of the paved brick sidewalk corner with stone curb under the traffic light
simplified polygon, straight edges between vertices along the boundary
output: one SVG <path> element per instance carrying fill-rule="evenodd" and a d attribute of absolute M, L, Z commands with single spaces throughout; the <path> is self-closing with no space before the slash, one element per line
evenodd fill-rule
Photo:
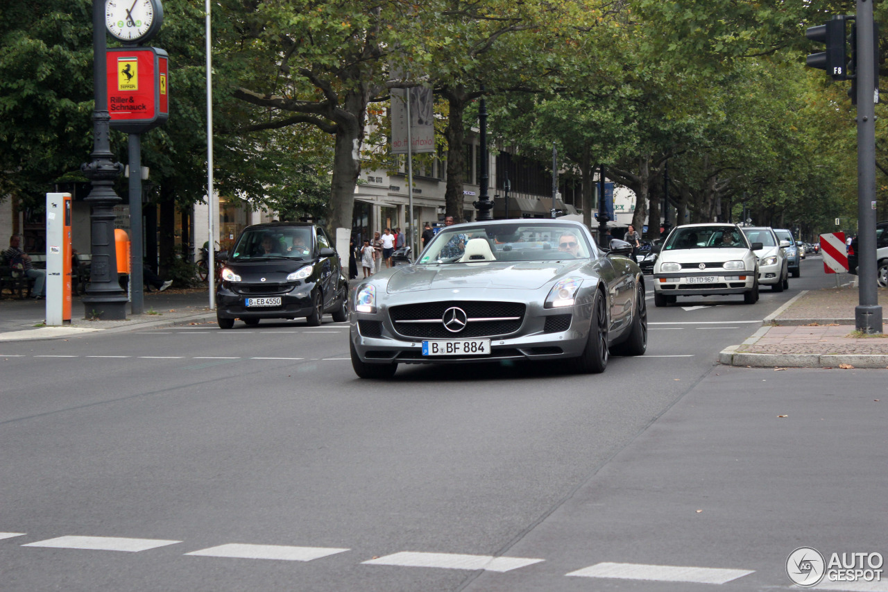
<path fill-rule="evenodd" d="M 725 348 L 721 364 L 757 367 L 888 368 L 888 335 L 855 332 L 857 283 L 801 292 L 741 345 Z M 888 289 L 878 289 L 878 304 Z"/>

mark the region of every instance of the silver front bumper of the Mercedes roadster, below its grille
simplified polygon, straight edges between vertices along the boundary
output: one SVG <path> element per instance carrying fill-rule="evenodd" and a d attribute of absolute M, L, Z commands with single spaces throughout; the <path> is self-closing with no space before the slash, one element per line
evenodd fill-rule
<path fill-rule="evenodd" d="M 569 316 L 569 318 L 566 318 Z M 566 308 L 543 308 L 528 303 L 518 330 L 489 339 L 487 356 L 424 356 L 422 338 L 398 334 L 387 308 L 376 313 L 349 314 L 355 351 L 367 364 L 467 364 L 507 360 L 556 360 L 580 356 L 586 347 L 591 321 L 591 303 Z M 463 339 L 454 335 L 453 339 Z"/>

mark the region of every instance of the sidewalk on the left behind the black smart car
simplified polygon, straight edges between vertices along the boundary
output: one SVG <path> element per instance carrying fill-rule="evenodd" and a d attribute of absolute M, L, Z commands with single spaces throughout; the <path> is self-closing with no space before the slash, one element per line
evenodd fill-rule
<path fill-rule="evenodd" d="M 75 296 L 71 301 L 71 324 L 46 327 L 45 300 L 4 298 L 0 300 L 0 341 L 39 340 L 97 331 L 124 332 L 216 322 L 216 313 L 210 309 L 210 295 L 206 286 L 147 292 L 143 310 L 141 315 L 127 314 L 124 321 L 91 321 L 84 318 L 83 302 Z"/>

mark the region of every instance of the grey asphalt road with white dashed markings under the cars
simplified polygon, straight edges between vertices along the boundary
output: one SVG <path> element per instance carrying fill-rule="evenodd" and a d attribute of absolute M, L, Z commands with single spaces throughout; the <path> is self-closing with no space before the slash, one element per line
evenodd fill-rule
<path fill-rule="evenodd" d="M 329 316 L 4 343 L 0 590 L 757 590 L 884 552 L 884 371 L 716 365 L 820 261 L 650 306 L 599 376 L 362 381 Z"/>

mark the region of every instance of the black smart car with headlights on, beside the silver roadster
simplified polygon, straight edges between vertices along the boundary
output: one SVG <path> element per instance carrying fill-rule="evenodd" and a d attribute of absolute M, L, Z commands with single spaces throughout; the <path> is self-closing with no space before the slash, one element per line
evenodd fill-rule
<path fill-rule="evenodd" d="M 216 292 L 219 327 L 234 319 L 305 316 L 312 326 L 324 313 L 348 318 L 348 280 L 327 233 L 310 222 L 269 222 L 247 227 L 227 253 Z"/>

